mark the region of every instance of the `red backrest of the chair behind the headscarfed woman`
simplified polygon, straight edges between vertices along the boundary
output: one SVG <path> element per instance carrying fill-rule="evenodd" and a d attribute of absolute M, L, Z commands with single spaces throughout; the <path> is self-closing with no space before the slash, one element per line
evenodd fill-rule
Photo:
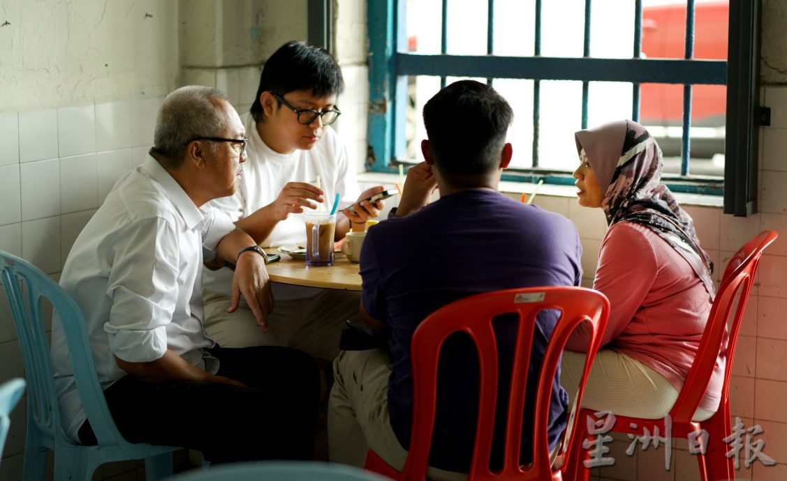
<path fill-rule="evenodd" d="M 772 230 L 763 230 L 738 249 L 730 259 L 730 263 L 727 264 L 722 283 L 719 285 L 711 307 L 711 313 L 708 314 L 708 323 L 705 325 L 700 347 L 691 369 L 689 369 L 689 374 L 686 376 L 683 389 L 670 413 L 673 421 L 687 423 L 692 420 L 697 406 L 700 406 L 700 401 L 708 389 L 719 351 L 725 347 L 725 337 L 727 337 L 726 365 L 724 384 L 722 385 L 722 403 L 726 402 L 729 397 L 730 373 L 732 373 L 735 345 L 748 303 L 748 294 L 752 290 L 759 258 L 763 255 L 765 248 L 776 240 L 776 237 L 778 237 L 778 233 Z M 733 307 L 735 307 L 733 318 L 728 323 Z M 729 336 L 726 336 L 728 332 Z"/>

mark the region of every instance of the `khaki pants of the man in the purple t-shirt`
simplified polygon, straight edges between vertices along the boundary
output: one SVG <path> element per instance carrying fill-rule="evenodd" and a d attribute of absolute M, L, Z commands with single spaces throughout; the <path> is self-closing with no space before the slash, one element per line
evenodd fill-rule
<path fill-rule="evenodd" d="M 371 447 L 393 468 L 405 468 L 401 447 L 388 416 L 390 359 L 377 349 L 341 351 L 334 360 L 334 386 L 328 402 L 328 457 L 331 462 L 364 467 Z M 428 468 L 438 481 L 464 481 L 466 473 Z"/>

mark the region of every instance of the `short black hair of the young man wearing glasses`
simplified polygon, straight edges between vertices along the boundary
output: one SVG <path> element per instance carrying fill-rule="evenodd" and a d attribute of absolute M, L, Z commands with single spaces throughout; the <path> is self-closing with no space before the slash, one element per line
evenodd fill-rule
<path fill-rule="evenodd" d="M 260 103 L 263 92 L 284 95 L 294 90 L 312 90 L 318 98 L 341 94 L 342 69 L 331 53 L 320 46 L 294 40 L 286 42 L 262 68 L 257 98 L 250 110 L 254 120 L 260 122 L 265 116 Z"/>

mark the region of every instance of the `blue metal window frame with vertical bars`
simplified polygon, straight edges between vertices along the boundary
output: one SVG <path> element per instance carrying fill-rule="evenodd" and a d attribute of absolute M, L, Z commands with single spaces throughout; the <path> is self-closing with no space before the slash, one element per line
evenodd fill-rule
<path fill-rule="evenodd" d="M 632 83 L 632 116 L 639 119 L 640 83 L 674 83 L 684 86 L 682 166 L 680 176 L 664 175 L 676 192 L 708 193 L 725 196 L 725 212 L 748 215 L 756 211 L 756 124 L 754 108 L 759 98 L 759 2 L 730 0 L 729 55 L 727 61 L 693 59 L 694 0 L 687 0 L 684 59 L 646 59 L 641 57 L 642 2 L 635 0 L 634 52 L 631 58 L 589 57 L 590 11 L 586 0 L 584 56 L 582 58 L 541 57 L 541 2 L 535 2 L 534 57 L 468 56 L 446 53 L 447 0 L 442 2 L 442 53 L 426 55 L 399 51 L 406 45 L 406 0 L 368 2 L 369 31 L 369 149 L 370 171 L 393 172 L 405 149 L 406 79 L 408 75 L 436 75 L 441 86 L 446 76 L 491 79 L 534 80 L 533 164 L 538 167 L 538 105 L 541 80 L 582 82 L 582 128 L 587 127 L 590 82 Z M 494 0 L 489 2 L 493 12 Z M 493 51 L 493 16 L 487 24 L 487 52 Z M 726 119 L 726 166 L 722 182 L 689 177 L 690 117 L 693 84 L 728 85 Z M 734 87 L 734 88 L 733 88 Z M 730 155 L 733 152 L 733 155 Z M 506 171 L 504 180 L 571 184 L 574 179 L 564 171 L 527 169 Z"/>

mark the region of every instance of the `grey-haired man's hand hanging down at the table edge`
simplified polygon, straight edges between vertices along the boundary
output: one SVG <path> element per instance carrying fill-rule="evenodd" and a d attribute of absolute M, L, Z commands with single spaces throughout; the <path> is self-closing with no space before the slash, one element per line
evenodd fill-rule
<path fill-rule="evenodd" d="M 246 298 L 246 303 L 249 303 L 257 325 L 262 332 L 268 332 L 268 314 L 273 311 L 273 294 L 268 270 L 265 269 L 265 260 L 257 252 L 243 252 L 238 257 L 235 274 L 232 276 L 228 313 L 238 309 L 241 294 Z"/>

